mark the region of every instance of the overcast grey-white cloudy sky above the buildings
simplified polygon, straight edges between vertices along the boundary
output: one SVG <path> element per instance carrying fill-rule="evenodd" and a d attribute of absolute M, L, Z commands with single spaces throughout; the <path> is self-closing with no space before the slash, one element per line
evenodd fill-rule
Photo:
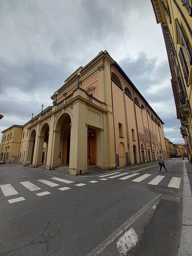
<path fill-rule="evenodd" d="M 0 24 L 0 132 L 52 105 L 65 79 L 107 49 L 164 121 L 165 137 L 184 142 L 151 1 L 1 0 Z"/>

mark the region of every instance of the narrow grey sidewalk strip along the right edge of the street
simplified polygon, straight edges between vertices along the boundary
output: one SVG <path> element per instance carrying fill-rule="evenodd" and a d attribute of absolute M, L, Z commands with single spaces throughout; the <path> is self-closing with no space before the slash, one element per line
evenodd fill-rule
<path fill-rule="evenodd" d="M 192 255 L 192 196 L 189 181 L 191 176 L 192 164 L 183 161 L 182 230 L 178 256 Z"/>

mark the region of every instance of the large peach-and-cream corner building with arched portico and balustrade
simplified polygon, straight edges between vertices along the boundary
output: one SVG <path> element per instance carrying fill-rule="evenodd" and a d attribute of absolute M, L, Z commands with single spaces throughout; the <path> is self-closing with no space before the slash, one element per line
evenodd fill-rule
<path fill-rule="evenodd" d="M 78 68 L 51 99 L 53 106 L 23 125 L 24 166 L 68 166 L 78 175 L 90 165 L 112 170 L 167 158 L 163 122 L 107 51 Z"/>

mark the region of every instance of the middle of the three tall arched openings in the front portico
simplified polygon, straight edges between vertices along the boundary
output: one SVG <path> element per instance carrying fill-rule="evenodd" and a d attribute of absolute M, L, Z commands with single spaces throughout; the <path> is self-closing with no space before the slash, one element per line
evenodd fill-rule
<path fill-rule="evenodd" d="M 46 164 L 47 162 L 47 149 L 48 149 L 48 141 L 49 141 L 49 125 L 48 123 L 44 123 L 41 127 L 39 138 L 37 145 L 37 161 L 36 166 L 40 166 L 41 164 Z"/>

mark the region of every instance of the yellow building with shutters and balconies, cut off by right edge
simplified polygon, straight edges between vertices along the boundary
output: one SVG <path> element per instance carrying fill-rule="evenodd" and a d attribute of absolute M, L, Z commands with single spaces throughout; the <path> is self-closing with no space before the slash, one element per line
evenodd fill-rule
<path fill-rule="evenodd" d="M 192 9 L 191 0 L 151 0 L 157 23 L 161 23 L 169 66 L 177 118 L 181 120 L 181 134 L 192 155 Z"/>

